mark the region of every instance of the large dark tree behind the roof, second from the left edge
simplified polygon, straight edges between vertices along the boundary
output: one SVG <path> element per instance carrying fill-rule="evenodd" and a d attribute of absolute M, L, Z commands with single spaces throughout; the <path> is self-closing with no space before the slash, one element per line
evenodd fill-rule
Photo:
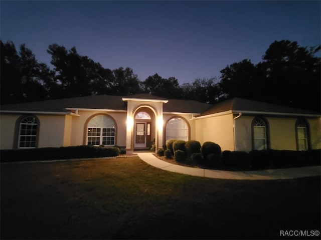
<path fill-rule="evenodd" d="M 51 64 L 55 67 L 54 81 L 48 83 L 53 98 L 80 97 L 108 94 L 114 78 L 111 70 L 104 69 L 87 56 L 80 56 L 75 47 L 67 51 L 57 44 L 50 45 Z"/>

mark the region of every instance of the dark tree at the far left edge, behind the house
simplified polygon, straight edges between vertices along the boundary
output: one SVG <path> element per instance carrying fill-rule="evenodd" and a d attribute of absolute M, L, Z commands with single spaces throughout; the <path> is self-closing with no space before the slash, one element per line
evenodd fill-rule
<path fill-rule="evenodd" d="M 24 44 L 18 53 L 12 42 L 1 41 L 1 104 L 46 99 L 44 82 L 52 74 Z"/>

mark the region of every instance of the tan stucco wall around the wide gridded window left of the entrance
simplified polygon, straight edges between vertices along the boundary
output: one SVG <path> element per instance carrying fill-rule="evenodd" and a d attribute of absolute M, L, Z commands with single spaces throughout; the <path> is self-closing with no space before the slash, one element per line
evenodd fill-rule
<path fill-rule="evenodd" d="M 80 117 L 72 118 L 70 145 L 86 145 L 86 121 L 95 114 L 106 114 L 114 119 L 116 128 L 116 145 L 126 146 L 126 113 L 125 112 L 100 112 L 78 111 Z"/>

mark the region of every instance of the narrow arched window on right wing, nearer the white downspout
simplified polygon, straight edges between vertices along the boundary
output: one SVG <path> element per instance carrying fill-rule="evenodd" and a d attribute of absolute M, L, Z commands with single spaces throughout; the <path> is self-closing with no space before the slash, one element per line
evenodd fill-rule
<path fill-rule="evenodd" d="M 254 118 L 252 133 L 254 150 L 268 149 L 267 123 L 263 118 Z"/>

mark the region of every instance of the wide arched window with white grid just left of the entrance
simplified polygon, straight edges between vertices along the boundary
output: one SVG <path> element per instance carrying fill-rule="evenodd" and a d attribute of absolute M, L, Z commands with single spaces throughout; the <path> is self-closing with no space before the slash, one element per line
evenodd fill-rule
<path fill-rule="evenodd" d="M 105 115 L 92 118 L 87 128 L 88 145 L 115 145 L 116 126 L 114 120 Z"/>

